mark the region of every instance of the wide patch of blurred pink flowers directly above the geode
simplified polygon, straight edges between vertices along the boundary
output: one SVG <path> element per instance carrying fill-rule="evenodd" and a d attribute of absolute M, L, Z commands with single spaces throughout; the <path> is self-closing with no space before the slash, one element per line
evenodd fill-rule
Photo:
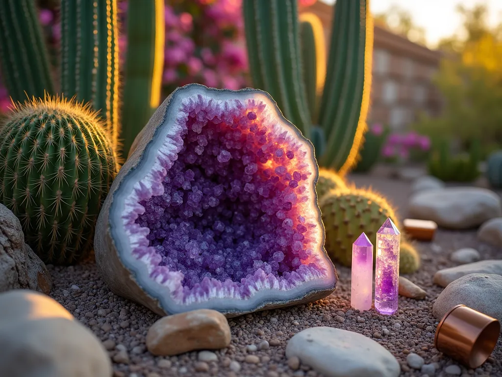
<path fill-rule="evenodd" d="M 166 4 L 164 94 L 198 82 L 246 86 L 242 0 L 189 0 Z"/>

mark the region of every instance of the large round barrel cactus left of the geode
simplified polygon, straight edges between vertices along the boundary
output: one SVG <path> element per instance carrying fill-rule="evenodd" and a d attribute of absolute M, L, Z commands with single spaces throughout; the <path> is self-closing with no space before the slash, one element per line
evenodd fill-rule
<path fill-rule="evenodd" d="M 33 98 L 14 104 L 0 128 L 0 203 L 46 263 L 70 264 L 92 249 L 117 170 L 108 134 L 88 105 Z"/>

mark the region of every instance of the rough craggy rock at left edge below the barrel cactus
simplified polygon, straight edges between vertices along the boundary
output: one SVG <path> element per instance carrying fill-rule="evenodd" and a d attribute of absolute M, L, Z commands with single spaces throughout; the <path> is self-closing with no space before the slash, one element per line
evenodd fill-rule
<path fill-rule="evenodd" d="M 25 243 L 19 219 L 0 204 L 0 292 L 19 288 L 48 295 L 52 288 L 51 274 Z"/>

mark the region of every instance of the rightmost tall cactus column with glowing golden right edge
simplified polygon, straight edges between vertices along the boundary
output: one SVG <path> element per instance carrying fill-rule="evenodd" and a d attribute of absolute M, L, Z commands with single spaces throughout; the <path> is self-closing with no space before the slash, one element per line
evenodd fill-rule
<path fill-rule="evenodd" d="M 372 22 L 365 0 L 339 1 L 335 8 L 319 123 L 327 134 L 329 146 L 323 162 L 344 174 L 357 157 L 366 128 Z M 354 19 L 358 22 L 351 22 Z"/>

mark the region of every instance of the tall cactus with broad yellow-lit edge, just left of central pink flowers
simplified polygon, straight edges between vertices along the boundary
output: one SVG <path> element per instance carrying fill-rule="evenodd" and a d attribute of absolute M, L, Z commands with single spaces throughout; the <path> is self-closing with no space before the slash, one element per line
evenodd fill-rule
<path fill-rule="evenodd" d="M 122 153 L 159 106 L 164 62 L 164 0 L 129 0 Z"/>

